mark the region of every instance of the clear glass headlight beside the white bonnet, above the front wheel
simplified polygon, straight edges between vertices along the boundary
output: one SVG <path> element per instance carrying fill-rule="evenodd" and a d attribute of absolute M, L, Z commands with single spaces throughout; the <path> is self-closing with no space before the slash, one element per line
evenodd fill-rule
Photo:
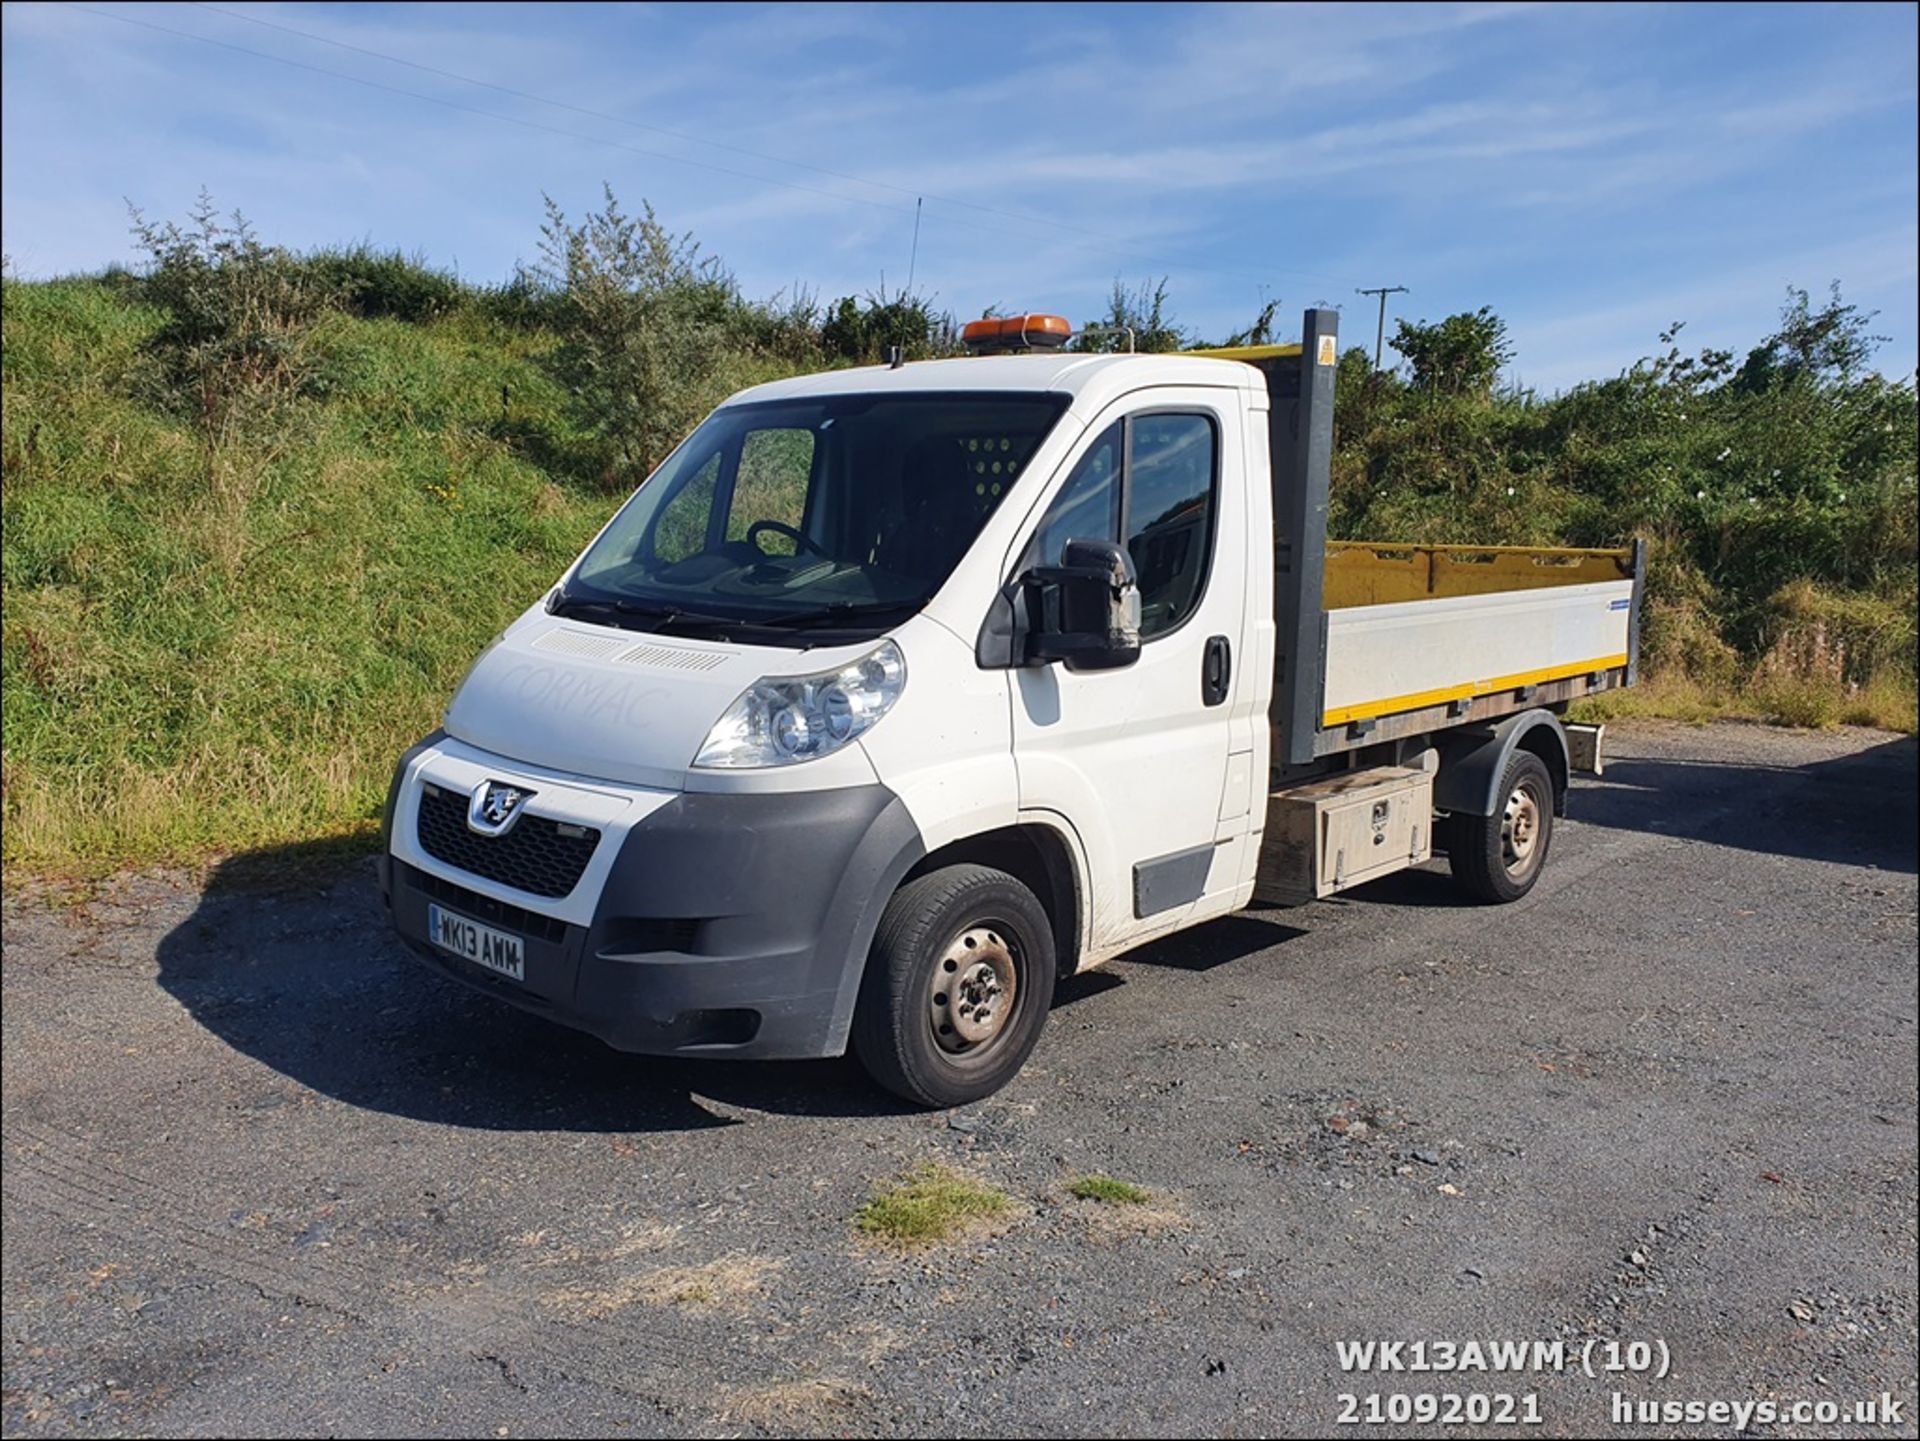
<path fill-rule="evenodd" d="M 862 735 L 906 689 L 906 656 L 887 641 L 839 670 L 768 675 L 726 708 L 695 766 L 743 769 L 829 756 Z"/>

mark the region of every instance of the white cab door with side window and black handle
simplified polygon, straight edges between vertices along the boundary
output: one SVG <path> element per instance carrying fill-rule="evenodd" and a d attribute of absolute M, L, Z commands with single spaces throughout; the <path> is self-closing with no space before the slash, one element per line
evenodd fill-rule
<path fill-rule="evenodd" d="M 1127 397 L 1089 426 L 1016 566 L 1121 541 L 1140 587 L 1135 664 L 1014 672 L 1020 804 L 1081 839 L 1091 959 L 1235 902 L 1254 744 L 1242 424 L 1235 390 Z"/>

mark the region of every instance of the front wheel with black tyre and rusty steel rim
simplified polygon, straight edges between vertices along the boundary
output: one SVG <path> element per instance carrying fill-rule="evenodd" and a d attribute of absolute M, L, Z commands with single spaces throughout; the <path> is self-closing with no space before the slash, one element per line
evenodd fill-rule
<path fill-rule="evenodd" d="M 1054 996 L 1054 933 L 1027 886 L 948 865 L 893 892 L 874 934 L 852 1046 L 895 1096 L 966 1105 L 1025 1063 Z"/>

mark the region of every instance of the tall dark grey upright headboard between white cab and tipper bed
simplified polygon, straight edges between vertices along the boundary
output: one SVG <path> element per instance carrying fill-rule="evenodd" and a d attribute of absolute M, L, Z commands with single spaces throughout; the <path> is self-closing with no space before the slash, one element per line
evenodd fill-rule
<path fill-rule="evenodd" d="M 1269 380 L 1267 445 L 1273 470 L 1273 677 L 1275 762 L 1313 760 L 1327 679 L 1327 491 L 1332 478 L 1332 386 L 1340 368 L 1340 313 L 1308 311 L 1294 384 Z M 1288 391 L 1292 391 L 1288 395 Z"/>

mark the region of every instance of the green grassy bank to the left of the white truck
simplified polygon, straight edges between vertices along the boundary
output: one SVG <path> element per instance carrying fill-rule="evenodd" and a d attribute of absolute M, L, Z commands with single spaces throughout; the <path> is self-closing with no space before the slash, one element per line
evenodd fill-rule
<path fill-rule="evenodd" d="M 397 748 L 605 518 L 516 441 L 553 382 L 474 315 L 328 317 L 330 390 L 225 443 L 148 399 L 163 317 L 6 286 L 6 862 L 361 831 Z M 507 401 L 501 401 L 501 395 Z"/>

